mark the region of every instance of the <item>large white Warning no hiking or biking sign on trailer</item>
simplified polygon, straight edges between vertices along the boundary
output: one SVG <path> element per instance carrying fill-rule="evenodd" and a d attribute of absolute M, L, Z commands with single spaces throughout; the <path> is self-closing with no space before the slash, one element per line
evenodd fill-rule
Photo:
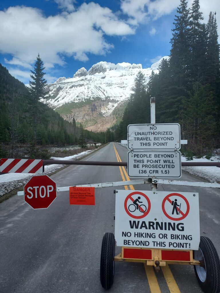
<path fill-rule="evenodd" d="M 117 246 L 198 250 L 199 194 L 116 190 Z"/>

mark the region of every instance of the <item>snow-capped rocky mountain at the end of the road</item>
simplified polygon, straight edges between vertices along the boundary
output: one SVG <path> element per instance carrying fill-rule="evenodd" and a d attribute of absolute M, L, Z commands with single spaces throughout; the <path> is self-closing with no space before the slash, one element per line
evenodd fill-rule
<path fill-rule="evenodd" d="M 168 59 L 169 57 L 163 58 Z M 72 78 L 60 77 L 53 84 L 49 84 L 47 89 L 49 95 L 42 101 L 49 103 L 65 119 L 71 121 L 75 117 L 76 121 L 82 122 L 84 126 L 89 128 L 89 126 L 92 126 L 91 123 L 85 124 L 84 122 L 85 120 L 91 120 L 91 117 L 88 117 L 90 110 L 103 118 L 109 117 L 113 110 L 130 96 L 131 87 L 138 71 L 143 72 L 146 82 L 148 82 L 151 71 L 158 71 L 158 65 L 163 58 L 152 64 L 150 68 L 142 68 L 141 64 L 126 62 L 114 64 L 103 61 L 92 65 L 88 71 L 82 67 L 77 70 Z M 66 103 L 73 102 L 74 107 L 72 109 L 71 104 L 69 104 L 69 107 L 64 106 Z M 80 115 L 79 106 L 76 107 L 75 104 L 79 102 L 80 109 L 86 110 L 83 115 Z M 93 105 L 92 108 L 91 105 Z M 85 107 L 86 109 L 84 109 Z M 67 110 L 64 110 L 64 108 L 67 108 Z M 92 123 L 95 124 L 97 117 L 95 118 L 93 115 L 92 120 Z"/>

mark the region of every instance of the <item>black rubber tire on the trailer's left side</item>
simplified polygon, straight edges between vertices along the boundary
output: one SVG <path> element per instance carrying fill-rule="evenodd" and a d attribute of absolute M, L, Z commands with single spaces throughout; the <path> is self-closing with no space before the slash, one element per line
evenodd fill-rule
<path fill-rule="evenodd" d="M 115 237 L 105 233 L 101 245 L 100 282 L 103 288 L 110 289 L 114 281 Z"/>

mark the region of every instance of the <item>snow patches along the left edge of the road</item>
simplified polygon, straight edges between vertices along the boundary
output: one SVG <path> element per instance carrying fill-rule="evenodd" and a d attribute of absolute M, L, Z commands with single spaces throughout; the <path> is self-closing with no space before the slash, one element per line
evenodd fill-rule
<path fill-rule="evenodd" d="M 80 159 L 86 154 L 92 152 L 93 150 L 83 151 L 80 154 L 65 157 L 65 158 L 57 158 L 57 157 L 51 157 L 51 159 L 54 160 L 76 160 Z M 52 164 L 44 167 L 44 173 L 43 174 L 50 174 L 58 169 L 62 168 L 66 165 L 57 165 Z M 0 196 L 4 195 L 5 193 L 10 192 L 13 189 L 19 188 L 22 185 L 26 184 L 30 178 L 33 176 L 27 173 L 7 173 L 0 176 Z"/>

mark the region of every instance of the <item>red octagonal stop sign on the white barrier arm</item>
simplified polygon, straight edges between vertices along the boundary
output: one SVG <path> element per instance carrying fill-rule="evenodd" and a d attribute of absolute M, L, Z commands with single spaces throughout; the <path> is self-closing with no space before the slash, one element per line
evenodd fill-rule
<path fill-rule="evenodd" d="M 47 175 L 33 176 L 24 186 L 24 201 L 33 209 L 48 208 L 56 197 L 56 183 Z"/>

